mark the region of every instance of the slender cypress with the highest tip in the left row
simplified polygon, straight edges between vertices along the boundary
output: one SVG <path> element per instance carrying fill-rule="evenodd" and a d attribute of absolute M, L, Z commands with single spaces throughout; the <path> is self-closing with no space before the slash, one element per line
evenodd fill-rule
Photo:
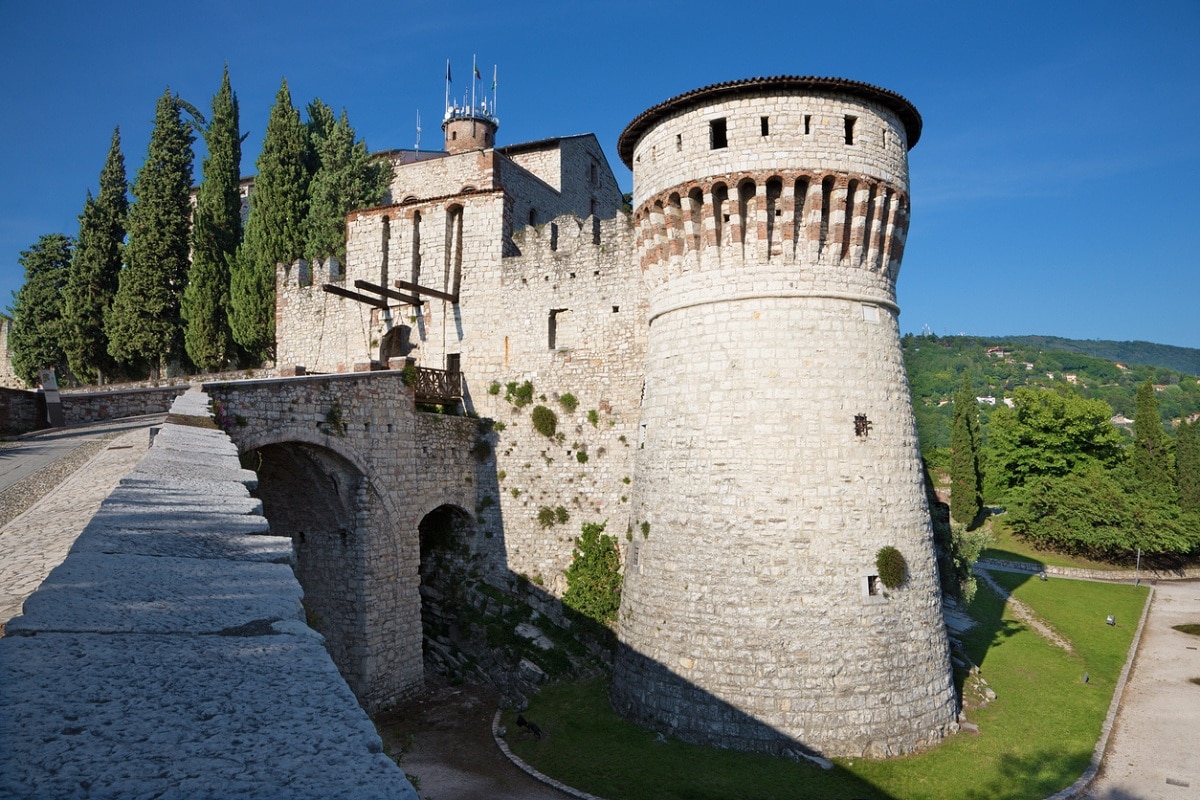
<path fill-rule="evenodd" d="M 229 264 L 241 243 L 241 133 L 229 66 L 204 132 L 208 156 L 192 219 L 192 267 L 184 290 L 184 345 L 192 363 L 215 369 L 229 357 Z"/>

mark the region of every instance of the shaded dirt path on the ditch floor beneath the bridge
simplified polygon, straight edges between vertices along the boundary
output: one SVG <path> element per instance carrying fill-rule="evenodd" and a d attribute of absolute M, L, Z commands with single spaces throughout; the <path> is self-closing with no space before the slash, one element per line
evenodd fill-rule
<path fill-rule="evenodd" d="M 430 686 L 376 717 L 388 752 L 421 800 L 563 800 L 517 769 L 492 740 L 494 691 L 463 684 Z"/>

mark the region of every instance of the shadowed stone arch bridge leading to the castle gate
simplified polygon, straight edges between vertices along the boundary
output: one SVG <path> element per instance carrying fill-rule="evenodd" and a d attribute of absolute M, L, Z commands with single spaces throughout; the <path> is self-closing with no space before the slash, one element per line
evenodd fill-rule
<path fill-rule="evenodd" d="M 422 521 L 496 483 L 487 423 L 415 411 L 400 371 L 211 383 L 214 415 L 292 536 L 308 622 L 367 710 L 424 682 Z M 494 489 L 492 494 L 494 495 Z"/>

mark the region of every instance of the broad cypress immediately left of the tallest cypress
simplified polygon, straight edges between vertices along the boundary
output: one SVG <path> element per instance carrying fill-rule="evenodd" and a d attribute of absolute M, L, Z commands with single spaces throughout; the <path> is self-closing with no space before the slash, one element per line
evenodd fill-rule
<path fill-rule="evenodd" d="M 190 265 L 192 142 L 179 98 L 167 89 L 133 182 L 125 269 L 104 318 L 109 354 L 124 363 L 145 363 L 155 375 L 169 359 L 184 355 L 180 303 Z"/>

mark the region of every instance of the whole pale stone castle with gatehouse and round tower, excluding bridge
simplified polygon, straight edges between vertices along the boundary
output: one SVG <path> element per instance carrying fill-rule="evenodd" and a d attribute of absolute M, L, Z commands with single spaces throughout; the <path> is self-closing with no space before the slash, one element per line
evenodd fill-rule
<path fill-rule="evenodd" d="M 607 522 L 628 717 L 773 752 L 938 741 L 955 693 L 895 301 L 916 108 L 829 78 L 686 92 L 620 136 L 631 213 L 594 136 L 497 146 L 498 125 L 449 107 L 443 152 L 386 154 L 344 265 L 278 269 L 281 374 L 445 371 L 497 421 L 472 516 L 497 570 L 560 595 L 578 523 Z"/>

